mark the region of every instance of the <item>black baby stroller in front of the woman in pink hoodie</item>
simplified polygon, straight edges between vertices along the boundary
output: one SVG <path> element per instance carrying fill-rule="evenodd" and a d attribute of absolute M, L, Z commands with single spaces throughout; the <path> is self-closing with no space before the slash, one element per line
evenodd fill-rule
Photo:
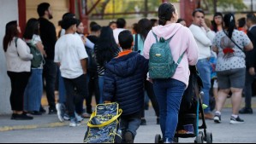
<path fill-rule="evenodd" d="M 203 84 L 195 66 L 190 66 L 189 69 L 191 74 L 189 77 L 188 89 L 186 89 L 182 98 L 179 122 L 177 124 L 174 142 L 179 142 L 179 138 L 195 137 L 195 143 L 204 143 L 204 141 L 212 143 L 212 134 L 206 131 L 207 127 L 204 118 L 204 108 L 201 101 L 204 94 L 203 92 L 199 92 L 200 87 Z M 201 113 L 202 117 L 201 126 L 199 126 L 199 113 Z M 155 136 L 155 143 L 163 142 L 161 135 Z"/>

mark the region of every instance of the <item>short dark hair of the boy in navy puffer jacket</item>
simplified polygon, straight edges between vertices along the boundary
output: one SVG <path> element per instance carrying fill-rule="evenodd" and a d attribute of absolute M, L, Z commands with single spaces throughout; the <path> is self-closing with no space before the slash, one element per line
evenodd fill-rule
<path fill-rule="evenodd" d="M 118 40 L 122 49 L 131 49 L 134 42 L 134 37 L 131 32 L 125 30 L 120 32 L 118 35 Z"/>

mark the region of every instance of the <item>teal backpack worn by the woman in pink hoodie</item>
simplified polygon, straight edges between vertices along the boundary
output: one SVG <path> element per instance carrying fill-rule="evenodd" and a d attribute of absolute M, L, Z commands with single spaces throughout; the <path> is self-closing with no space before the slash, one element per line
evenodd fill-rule
<path fill-rule="evenodd" d="M 167 40 L 160 37 L 158 41 L 157 35 L 154 32 L 152 33 L 156 37 L 157 43 L 152 44 L 149 52 L 149 77 L 152 79 L 172 78 L 185 52 L 176 63 L 170 51 L 170 40 L 172 37 Z"/>

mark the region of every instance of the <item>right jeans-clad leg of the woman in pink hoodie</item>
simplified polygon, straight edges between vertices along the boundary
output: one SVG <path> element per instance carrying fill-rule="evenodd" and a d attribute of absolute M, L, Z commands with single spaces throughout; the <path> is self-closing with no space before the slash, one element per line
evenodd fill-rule
<path fill-rule="evenodd" d="M 170 79 L 167 89 L 167 118 L 165 128 L 165 141 L 173 141 L 178 124 L 179 110 L 182 102 L 182 95 L 186 89 L 186 84 Z M 160 117 L 161 118 L 161 117 Z"/>

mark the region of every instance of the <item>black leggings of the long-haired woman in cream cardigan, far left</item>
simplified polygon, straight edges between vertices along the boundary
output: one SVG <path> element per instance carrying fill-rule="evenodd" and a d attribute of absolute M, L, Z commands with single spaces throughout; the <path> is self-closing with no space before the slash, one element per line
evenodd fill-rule
<path fill-rule="evenodd" d="M 11 82 L 10 105 L 13 111 L 23 111 L 24 92 L 30 72 L 7 72 Z"/>

